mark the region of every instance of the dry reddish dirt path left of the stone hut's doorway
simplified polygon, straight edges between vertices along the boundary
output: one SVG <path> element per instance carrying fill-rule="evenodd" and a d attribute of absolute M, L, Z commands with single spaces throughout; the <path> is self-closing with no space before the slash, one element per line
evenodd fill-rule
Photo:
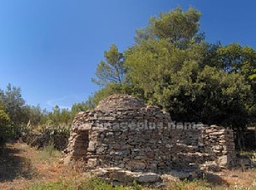
<path fill-rule="evenodd" d="M 8 144 L 0 155 L 0 189 L 22 189 L 35 182 L 57 181 L 75 171 L 58 164 L 60 153 L 49 156 L 24 143 Z"/>

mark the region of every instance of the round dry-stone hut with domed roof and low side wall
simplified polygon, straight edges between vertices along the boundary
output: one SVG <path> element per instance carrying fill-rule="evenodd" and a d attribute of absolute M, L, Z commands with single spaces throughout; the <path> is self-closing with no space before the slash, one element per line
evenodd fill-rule
<path fill-rule="evenodd" d="M 82 160 L 90 169 L 156 173 L 209 163 L 225 168 L 234 158 L 232 130 L 173 123 L 169 113 L 131 95 L 111 95 L 95 110 L 79 112 L 64 151 L 65 163 Z"/>

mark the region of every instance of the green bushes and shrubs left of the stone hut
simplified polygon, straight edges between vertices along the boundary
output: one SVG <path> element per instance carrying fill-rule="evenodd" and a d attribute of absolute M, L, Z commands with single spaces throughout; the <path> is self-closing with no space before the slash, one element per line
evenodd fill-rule
<path fill-rule="evenodd" d="M 5 90 L 0 89 L 0 146 L 21 135 L 31 139 L 34 132 L 37 138 L 38 133 L 54 141 L 58 136 L 68 138 L 75 114 L 94 107 L 92 103 L 89 99 L 74 104 L 71 110 L 56 105 L 52 112 L 47 112 L 39 106 L 26 105 L 21 89 L 8 84 Z"/>

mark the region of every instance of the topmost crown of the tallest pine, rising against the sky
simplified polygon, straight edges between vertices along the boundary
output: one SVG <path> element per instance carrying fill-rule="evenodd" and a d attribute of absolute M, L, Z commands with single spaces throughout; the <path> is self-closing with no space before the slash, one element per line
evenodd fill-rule
<path fill-rule="evenodd" d="M 199 20 L 201 13 L 189 8 L 183 12 L 180 7 L 168 13 L 162 13 L 159 17 L 152 17 L 148 26 L 137 30 L 135 41 L 141 43 L 148 39 L 168 38 L 169 42 L 183 45 L 191 39 L 201 41 L 203 34 L 199 32 Z"/>

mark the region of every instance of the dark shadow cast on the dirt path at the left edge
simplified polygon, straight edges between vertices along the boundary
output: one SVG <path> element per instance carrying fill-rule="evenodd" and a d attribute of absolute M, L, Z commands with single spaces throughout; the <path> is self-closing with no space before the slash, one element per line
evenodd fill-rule
<path fill-rule="evenodd" d="M 4 147 L 0 153 L 0 182 L 13 181 L 15 178 L 32 179 L 36 173 L 28 158 L 20 157 L 20 149 Z"/>

